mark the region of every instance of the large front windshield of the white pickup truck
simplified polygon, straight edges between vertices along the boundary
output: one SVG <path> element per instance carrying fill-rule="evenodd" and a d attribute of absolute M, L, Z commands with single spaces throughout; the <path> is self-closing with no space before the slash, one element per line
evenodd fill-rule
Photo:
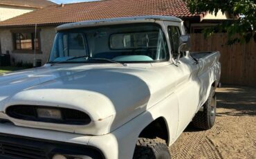
<path fill-rule="evenodd" d="M 84 57 L 84 58 L 74 58 Z M 167 42 L 156 24 L 126 24 L 57 32 L 50 63 L 161 62 L 169 59 Z"/>

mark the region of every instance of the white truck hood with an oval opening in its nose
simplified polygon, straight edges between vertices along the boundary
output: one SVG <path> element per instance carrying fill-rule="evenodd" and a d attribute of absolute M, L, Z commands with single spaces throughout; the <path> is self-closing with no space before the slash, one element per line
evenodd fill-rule
<path fill-rule="evenodd" d="M 0 76 L 0 118 L 17 126 L 103 135 L 161 100 L 157 84 L 163 75 L 149 68 L 125 66 L 43 66 Z M 154 96 L 154 102 L 149 100 Z M 92 122 L 84 126 L 10 118 L 12 105 L 60 106 L 84 111 Z"/>

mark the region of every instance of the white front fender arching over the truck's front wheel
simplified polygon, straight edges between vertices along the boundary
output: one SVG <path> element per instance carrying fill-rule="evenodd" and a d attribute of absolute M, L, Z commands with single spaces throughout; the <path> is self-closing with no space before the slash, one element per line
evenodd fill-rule
<path fill-rule="evenodd" d="M 130 159 L 134 155 L 138 136 L 143 129 L 154 120 L 162 117 L 167 124 L 167 135 L 169 137 L 167 144 L 171 145 L 177 138 L 178 107 L 177 97 L 173 93 L 133 120 L 122 125 L 116 131 L 103 136 L 93 136 L 89 140 L 89 144 L 101 149 L 107 158 Z"/>

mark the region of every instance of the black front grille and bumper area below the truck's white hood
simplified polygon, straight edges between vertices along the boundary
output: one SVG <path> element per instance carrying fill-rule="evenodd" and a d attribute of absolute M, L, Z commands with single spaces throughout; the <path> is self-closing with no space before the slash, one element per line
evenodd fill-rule
<path fill-rule="evenodd" d="M 0 158 L 52 159 L 56 154 L 66 156 L 68 159 L 104 158 L 99 149 L 88 145 L 0 134 Z"/>

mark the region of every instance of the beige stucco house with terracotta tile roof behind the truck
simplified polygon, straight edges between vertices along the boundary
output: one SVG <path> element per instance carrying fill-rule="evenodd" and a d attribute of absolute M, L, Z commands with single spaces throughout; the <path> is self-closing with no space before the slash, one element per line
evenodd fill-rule
<path fill-rule="evenodd" d="M 199 32 L 230 19 L 228 14 L 220 12 L 217 16 L 209 13 L 193 15 L 182 0 L 102 0 L 47 6 L 0 22 L 1 53 L 10 53 L 12 64 L 21 61 L 33 63 L 34 57 L 44 64 L 51 53 L 55 27 L 60 24 L 143 15 L 180 17 L 188 32 Z"/>

